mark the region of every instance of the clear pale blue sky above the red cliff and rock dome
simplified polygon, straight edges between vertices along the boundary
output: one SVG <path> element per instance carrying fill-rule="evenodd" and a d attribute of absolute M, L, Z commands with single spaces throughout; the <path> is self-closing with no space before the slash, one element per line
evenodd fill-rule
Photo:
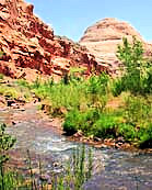
<path fill-rule="evenodd" d="M 87 26 L 104 18 L 129 22 L 152 41 L 152 0 L 26 0 L 57 35 L 79 41 Z"/>

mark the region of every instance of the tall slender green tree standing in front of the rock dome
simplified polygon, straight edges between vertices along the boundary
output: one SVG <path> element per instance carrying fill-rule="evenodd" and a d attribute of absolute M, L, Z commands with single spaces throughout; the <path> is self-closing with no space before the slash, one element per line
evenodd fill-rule
<path fill-rule="evenodd" d="M 117 57 L 122 63 L 121 83 L 119 81 L 119 91 L 130 90 L 132 93 L 142 93 L 144 91 L 143 77 L 145 72 L 145 60 L 143 58 L 143 46 L 136 37 L 132 43 L 127 38 L 122 40 L 122 45 L 118 45 Z M 121 90 L 120 90 L 121 89 Z"/>

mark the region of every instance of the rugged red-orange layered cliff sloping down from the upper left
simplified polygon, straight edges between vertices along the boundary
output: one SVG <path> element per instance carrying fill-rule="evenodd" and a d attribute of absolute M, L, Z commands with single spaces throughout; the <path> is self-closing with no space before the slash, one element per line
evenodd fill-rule
<path fill-rule="evenodd" d="M 0 0 L 0 72 L 35 79 L 37 75 L 61 76 L 79 65 L 90 72 L 97 65 L 86 49 L 55 36 L 33 10 L 34 5 L 23 0 Z"/>

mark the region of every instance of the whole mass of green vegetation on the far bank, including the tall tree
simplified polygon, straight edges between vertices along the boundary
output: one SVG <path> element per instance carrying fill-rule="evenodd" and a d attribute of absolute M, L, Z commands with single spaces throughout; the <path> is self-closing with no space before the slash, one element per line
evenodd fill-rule
<path fill-rule="evenodd" d="M 28 88 L 38 97 L 42 109 L 62 116 L 67 135 L 82 132 L 86 137 L 122 139 L 138 148 L 152 147 L 152 60 L 145 58 L 142 44 L 124 38 L 117 57 L 121 75 L 106 74 L 84 79 L 72 71 L 60 82 L 37 79 Z"/>

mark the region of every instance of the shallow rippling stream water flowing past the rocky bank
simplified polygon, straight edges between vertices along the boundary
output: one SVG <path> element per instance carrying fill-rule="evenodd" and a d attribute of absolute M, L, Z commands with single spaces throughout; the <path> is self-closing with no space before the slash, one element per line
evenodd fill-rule
<path fill-rule="evenodd" d="M 36 107 L 25 110 L 1 110 L 0 122 L 14 120 L 8 128 L 17 142 L 11 152 L 16 166 L 26 163 L 30 149 L 33 165 L 42 159 L 46 172 L 61 171 L 72 149 L 80 143 L 69 142 L 48 120 L 36 113 Z M 114 148 L 93 148 L 94 175 L 84 185 L 85 190 L 152 190 L 152 154 L 129 153 Z"/>

